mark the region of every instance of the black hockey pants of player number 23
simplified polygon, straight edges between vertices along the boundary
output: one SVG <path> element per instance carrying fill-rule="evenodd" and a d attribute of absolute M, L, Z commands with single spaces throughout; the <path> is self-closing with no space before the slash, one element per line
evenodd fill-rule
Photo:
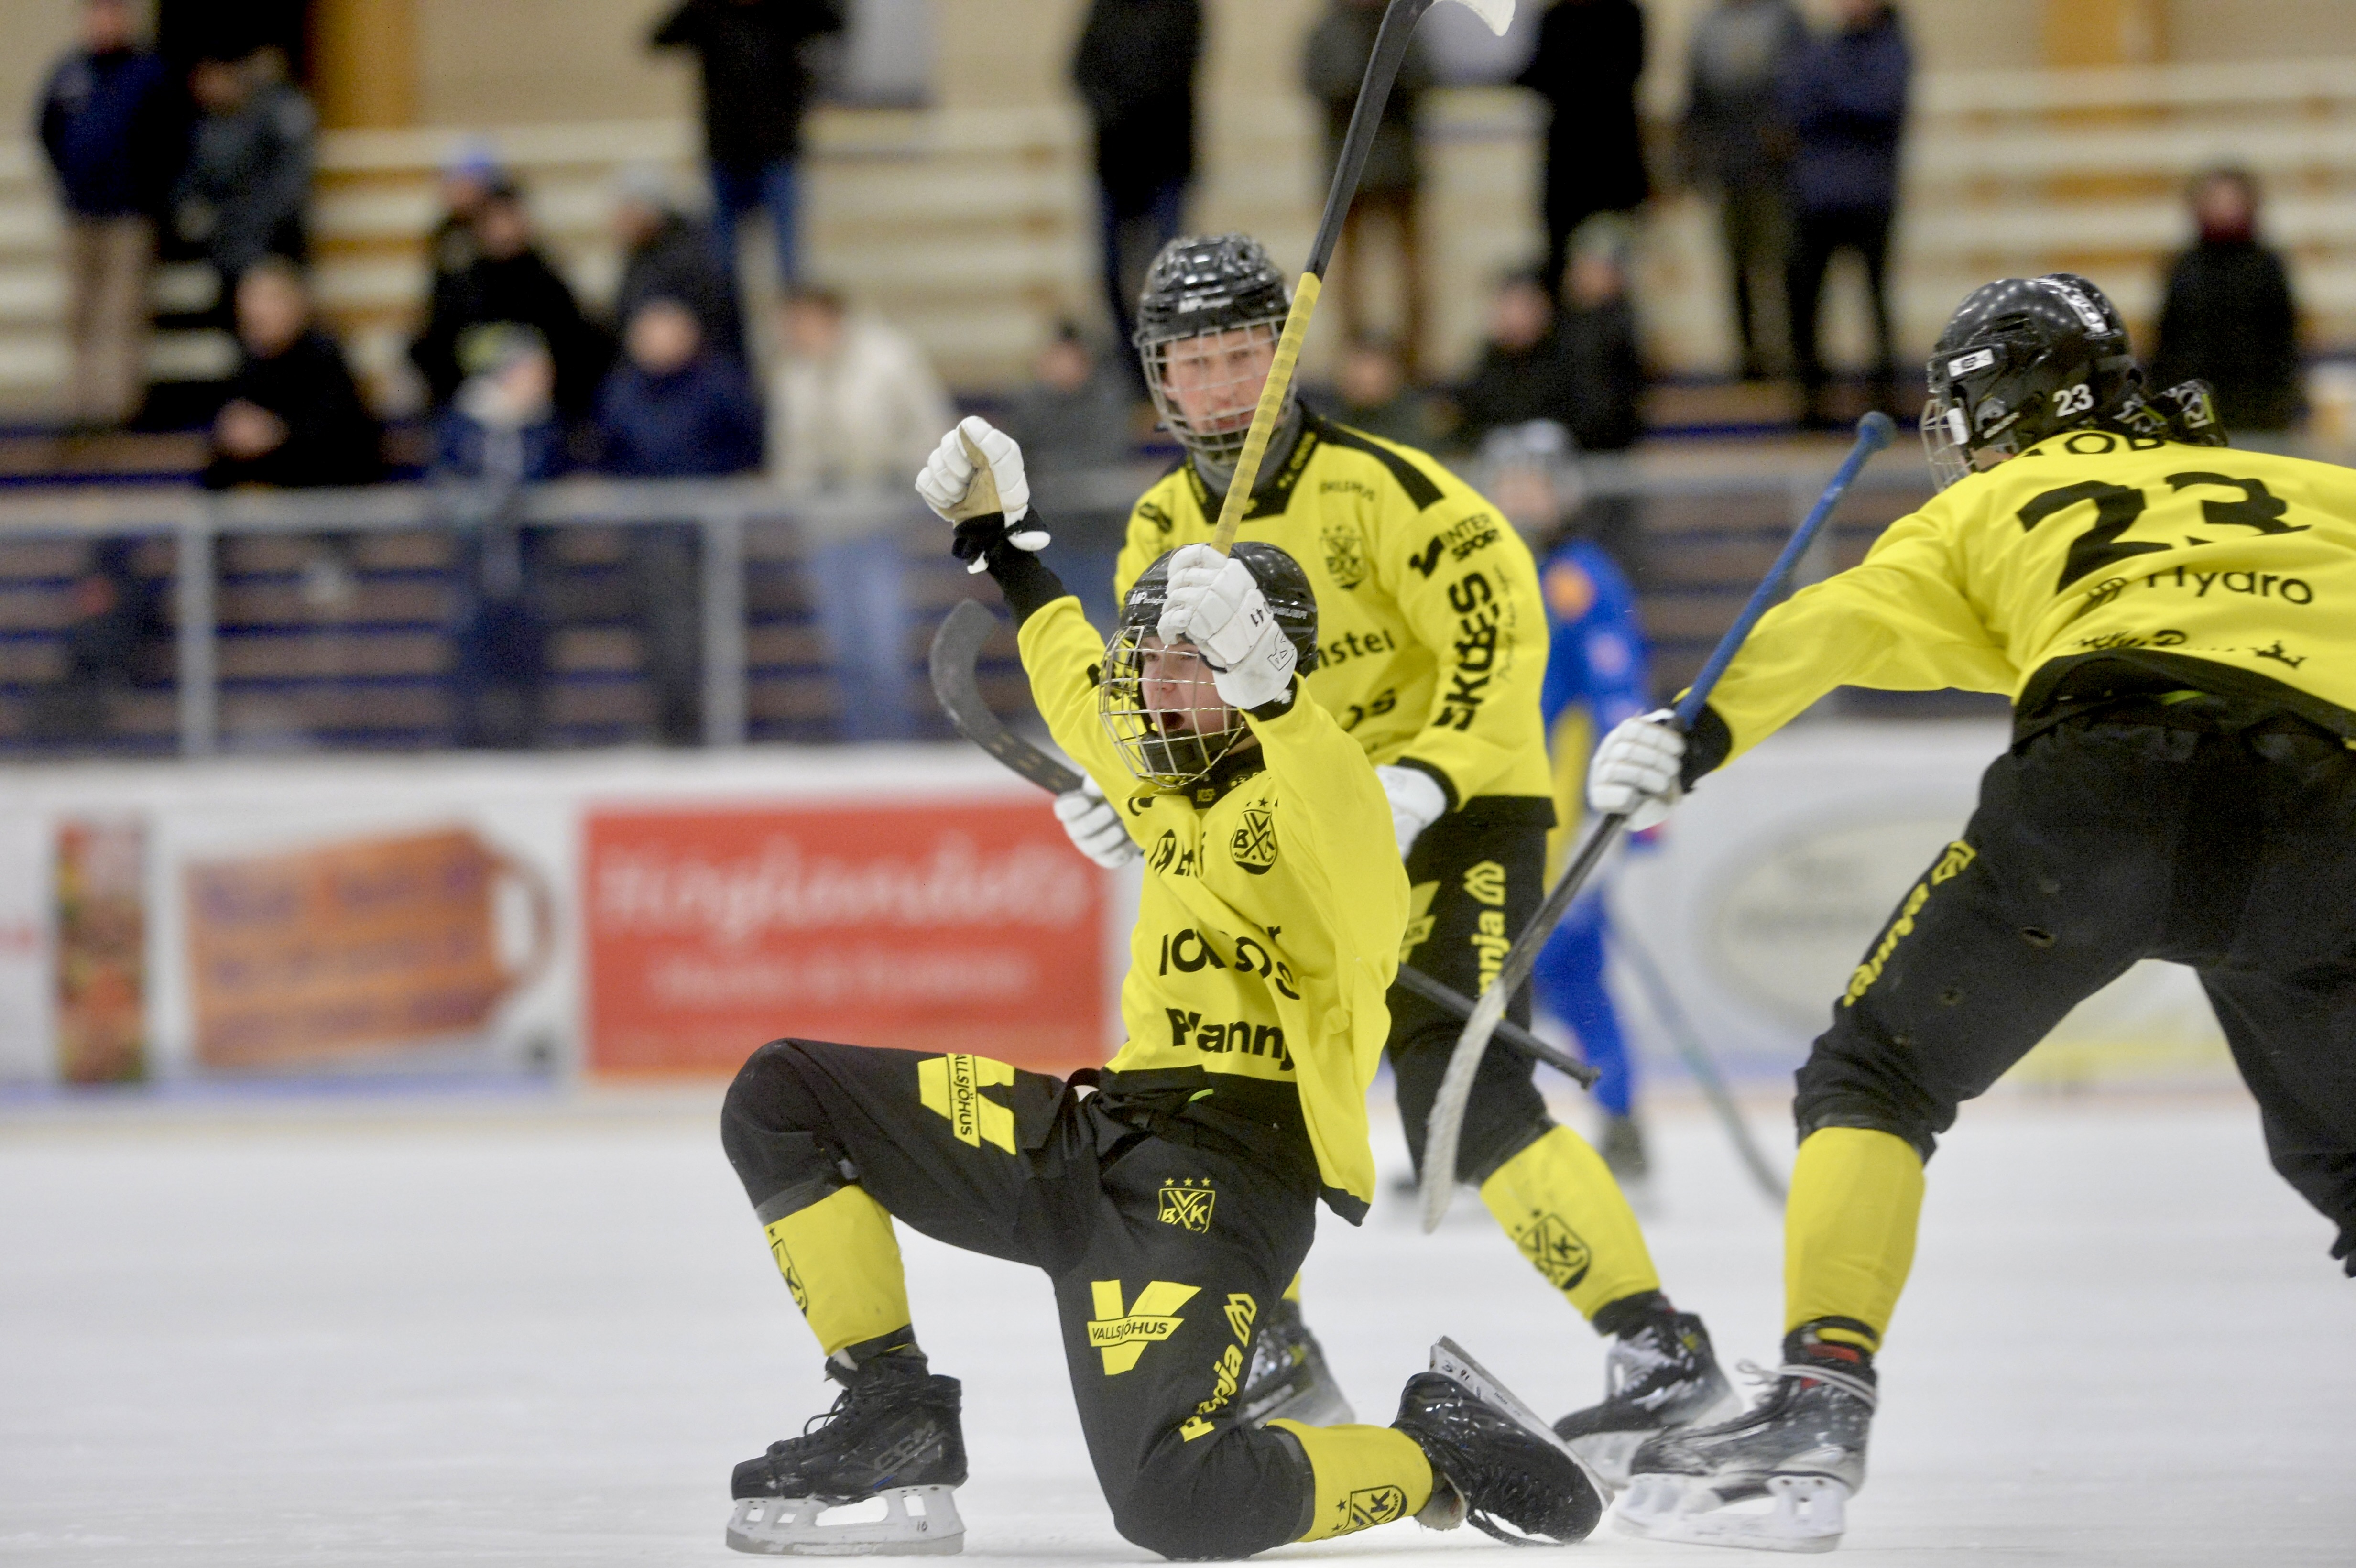
<path fill-rule="evenodd" d="M 2071 718 L 1988 768 L 1800 1069 L 1802 1140 L 1878 1128 L 1930 1158 L 2064 1012 L 2168 958 L 2356 1274 L 2356 751 L 2295 718 L 2184 727 L 2219 706 Z"/>

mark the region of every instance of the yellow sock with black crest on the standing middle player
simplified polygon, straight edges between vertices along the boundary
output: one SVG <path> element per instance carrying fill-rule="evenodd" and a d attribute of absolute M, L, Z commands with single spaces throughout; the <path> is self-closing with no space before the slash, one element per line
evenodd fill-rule
<path fill-rule="evenodd" d="M 1659 1290 L 1628 1198 L 1604 1158 L 1569 1128 L 1553 1128 L 1480 1184 L 1480 1201 L 1546 1281 L 1593 1318 L 1612 1302 Z"/>

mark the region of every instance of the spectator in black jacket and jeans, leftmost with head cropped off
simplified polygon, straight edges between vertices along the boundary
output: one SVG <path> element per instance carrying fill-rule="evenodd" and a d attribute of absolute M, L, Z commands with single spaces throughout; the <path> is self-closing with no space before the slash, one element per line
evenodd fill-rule
<path fill-rule="evenodd" d="M 735 278 L 737 221 L 768 212 L 777 275 L 801 278 L 801 118 L 810 108 L 810 45 L 843 26 L 841 0 L 686 0 L 650 38 L 693 49 L 704 75 L 712 233 Z"/>

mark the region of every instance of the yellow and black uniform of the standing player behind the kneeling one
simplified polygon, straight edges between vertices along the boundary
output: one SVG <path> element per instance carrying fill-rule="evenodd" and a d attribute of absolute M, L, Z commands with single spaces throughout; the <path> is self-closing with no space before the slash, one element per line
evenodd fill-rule
<path fill-rule="evenodd" d="M 1164 551 L 1211 539 L 1220 497 L 1192 461 L 1166 473 L 1129 518 L 1117 591 Z M 1303 414 L 1239 539 L 1291 553 L 1317 591 L 1317 669 L 1303 676 L 1376 765 L 1430 775 L 1447 812 L 1407 857 L 1402 963 L 1477 996 L 1546 895 L 1553 768 L 1538 695 L 1546 600 L 1513 525 L 1430 454 Z M 1143 841 L 1140 841 L 1143 843 Z M 1374 852 L 1395 843 L 1369 833 Z M 1152 845 L 1147 845 L 1152 850 Z M 1527 989 L 1510 1017 L 1529 1024 Z M 1414 991 L 1390 991 L 1390 1064 L 1409 1151 L 1463 1022 Z M 1546 1114 L 1529 1062 L 1489 1052 L 1465 1107 L 1458 1175 L 1524 1257 L 1581 1314 L 1659 1288 L 1644 1236 L 1602 1158 Z"/>

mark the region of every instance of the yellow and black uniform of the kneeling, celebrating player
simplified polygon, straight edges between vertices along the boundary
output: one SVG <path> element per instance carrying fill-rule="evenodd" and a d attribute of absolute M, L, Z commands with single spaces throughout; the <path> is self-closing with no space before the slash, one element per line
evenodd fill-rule
<path fill-rule="evenodd" d="M 1390 1427 L 1251 1427 L 1256 1321 L 1324 1196 L 1374 1191 L 1366 1083 L 1407 878 L 1364 843 L 1390 808 L 1310 699 L 1192 789 L 1138 789 L 1098 718 L 1103 638 L 1053 572 L 992 560 L 1055 739 L 1145 845 L 1121 1017 L 1070 1083 L 973 1055 L 775 1041 L 728 1092 L 723 1142 L 827 1354 L 912 1344 L 898 1217 L 1048 1271 L 1117 1528 L 1164 1556 L 1246 1556 L 1402 1519 L 1430 1464 Z M 1298 692 L 1298 687 L 1296 687 Z M 1093 1088 L 1093 1092 L 1086 1092 Z"/>

